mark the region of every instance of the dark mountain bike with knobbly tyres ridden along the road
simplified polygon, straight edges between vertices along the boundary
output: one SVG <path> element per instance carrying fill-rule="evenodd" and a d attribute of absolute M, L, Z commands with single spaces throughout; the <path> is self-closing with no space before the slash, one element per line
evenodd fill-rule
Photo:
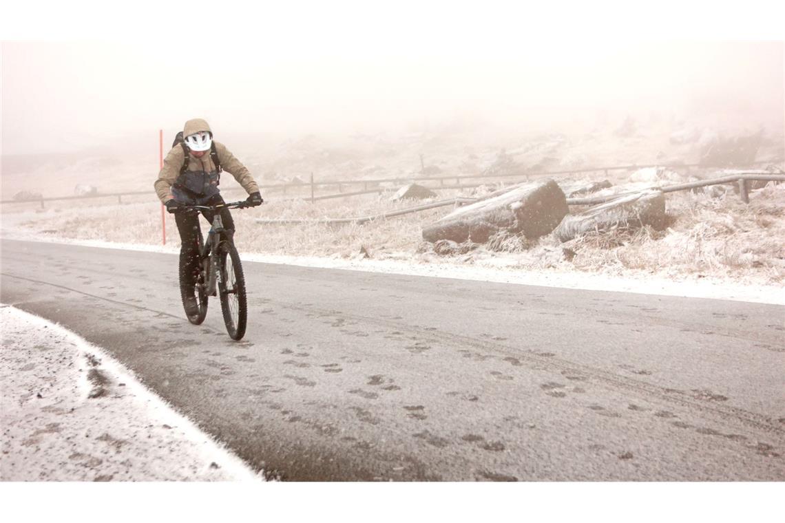
<path fill-rule="evenodd" d="M 221 311 L 224 324 L 232 340 L 241 340 L 245 336 L 248 320 L 248 303 L 246 300 L 245 276 L 240 256 L 235 248 L 232 234 L 224 228 L 221 220 L 221 209 L 245 209 L 250 207 L 246 201 L 223 203 L 220 205 L 183 205 L 183 212 L 212 211 L 213 223 L 207 233 L 207 241 L 203 241 L 199 232 L 199 274 L 193 290 L 181 285 L 181 299 L 185 308 L 188 292 L 193 292 L 199 312 L 186 316 L 194 325 L 200 325 L 207 315 L 207 299 L 218 296 L 221 300 Z M 183 274 L 183 271 L 181 271 Z"/>

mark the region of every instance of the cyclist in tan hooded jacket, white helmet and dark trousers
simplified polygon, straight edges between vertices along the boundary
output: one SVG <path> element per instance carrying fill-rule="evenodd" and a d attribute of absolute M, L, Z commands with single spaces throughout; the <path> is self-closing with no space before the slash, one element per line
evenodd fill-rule
<path fill-rule="evenodd" d="M 166 205 L 166 210 L 174 214 L 180 233 L 180 285 L 188 315 L 199 311 L 194 285 L 199 274 L 199 238 L 202 231 L 195 212 L 181 211 L 184 210 L 183 205 L 224 203 L 218 189 L 223 170 L 231 173 L 247 191 L 249 205 L 261 205 L 259 187 L 245 165 L 223 143 L 213 140 L 213 132 L 205 120 L 194 118 L 185 122 L 181 142 L 178 135 L 172 150 L 166 154 L 158 180 L 155 180 L 155 192 Z M 212 223 L 213 212 L 203 211 L 202 215 Z M 228 209 L 221 209 L 221 220 L 229 238 L 232 238 L 235 223 Z"/>

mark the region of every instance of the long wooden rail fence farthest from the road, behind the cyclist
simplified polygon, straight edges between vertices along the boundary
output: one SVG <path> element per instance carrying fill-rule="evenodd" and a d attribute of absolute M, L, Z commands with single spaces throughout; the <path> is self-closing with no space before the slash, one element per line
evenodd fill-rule
<path fill-rule="evenodd" d="M 760 162 L 752 162 L 752 165 L 778 165 L 782 164 L 783 159 L 773 159 L 773 160 L 764 160 Z M 271 190 L 271 191 L 282 191 L 283 194 L 287 194 L 287 191 L 298 189 L 300 191 L 310 191 L 310 197 L 306 196 L 299 196 L 298 198 L 308 199 L 311 202 L 316 202 L 319 200 L 327 200 L 331 198 L 346 198 L 350 196 L 358 196 L 362 194 L 378 194 L 385 191 L 390 191 L 392 187 L 373 187 L 378 186 L 381 183 L 394 183 L 399 185 L 406 185 L 408 183 L 419 183 L 422 181 L 437 181 L 439 185 L 436 187 L 429 187 L 432 190 L 439 190 L 439 189 L 466 189 L 466 188 L 473 188 L 473 187 L 480 187 L 485 183 L 462 183 L 462 180 L 491 180 L 491 179 L 502 179 L 502 178 L 524 178 L 525 180 L 529 180 L 532 177 L 542 177 L 542 176 L 560 176 L 560 175 L 578 175 L 578 174 L 586 174 L 586 173 L 604 173 L 605 175 L 611 171 L 619 171 L 619 170 L 633 170 L 633 169 L 649 169 L 654 167 L 663 167 L 667 169 L 692 169 L 692 168 L 701 168 L 701 169 L 712 169 L 713 167 L 710 165 L 701 165 L 698 163 L 694 164 L 648 164 L 648 165 L 612 165 L 606 167 L 591 167 L 585 169 L 568 169 L 568 170 L 559 170 L 559 171 L 528 171 L 526 169 L 521 169 L 518 171 L 513 171 L 510 173 L 480 173 L 480 174 L 469 174 L 469 175 L 455 175 L 455 176 L 408 176 L 403 178 L 375 178 L 375 179 L 366 179 L 366 180 L 321 180 L 315 182 L 313 178 L 311 178 L 310 182 L 302 182 L 302 183 L 261 183 L 257 184 L 261 190 Z M 782 169 L 780 169 L 782 170 Z M 783 172 L 785 173 L 785 172 Z M 770 174 L 770 173 L 769 173 Z M 455 183 L 451 183 L 455 182 Z M 362 185 L 362 191 L 350 191 L 350 192 L 343 192 L 343 186 L 350 186 L 350 185 Z M 316 188 L 325 189 L 326 187 L 338 187 L 337 194 L 323 194 L 316 196 L 314 193 Z M 239 187 L 231 187 L 228 189 L 223 190 L 224 192 L 232 192 L 232 191 L 241 191 Z M 122 197 L 124 196 L 143 196 L 148 195 L 155 198 L 154 191 L 129 191 L 129 192 L 111 192 L 111 193 L 96 193 L 96 194 L 82 194 L 82 195 L 71 195 L 71 196 L 57 196 L 52 198 L 30 198 L 27 200 L 2 200 L 0 204 L 24 204 L 24 203 L 31 203 L 31 202 L 40 202 L 41 207 L 44 208 L 45 202 L 58 202 L 58 201 L 69 201 L 69 200 L 90 200 L 95 198 L 117 198 L 119 203 L 122 203 Z"/>

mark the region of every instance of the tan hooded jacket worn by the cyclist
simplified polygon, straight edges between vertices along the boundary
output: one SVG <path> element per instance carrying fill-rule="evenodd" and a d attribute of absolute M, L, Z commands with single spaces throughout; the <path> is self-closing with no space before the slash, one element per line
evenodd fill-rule
<path fill-rule="evenodd" d="M 201 118 L 188 120 L 188 122 L 185 123 L 184 136 L 188 136 L 198 131 L 210 131 L 210 126 Z M 248 194 L 259 192 L 259 187 L 254 180 L 254 176 L 251 176 L 248 169 L 246 169 L 246 166 L 240 163 L 240 161 L 235 158 L 235 155 L 232 154 L 223 143 L 216 141 L 213 143 L 215 143 L 218 161 L 221 162 L 221 169 L 231 173 L 232 176 L 235 177 L 235 180 L 237 180 L 237 183 L 243 186 L 243 189 L 245 189 Z M 154 184 L 155 193 L 158 194 L 158 197 L 163 203 L 166 203 L 173 198 L 172 185 L 174 180 L 177 180 L 177 176 L 180 176 L 180 169 L 183 166 L 184 158 L 183 148 L 178 143 L 175 147 L 172 147 L 172 150 L 169 151 L 169 154 L 166 154 L 166 158 L 163 160 L 163 168 L 158 173 L 158 180 L 155 180 Z M 196 158 L 193 154 L 188 154 L 188 171 L 204 171 L 210 173 L 215 169 L 215 165 L 210 159 L 210 151 L 206 151 L 202 158 Z"/>

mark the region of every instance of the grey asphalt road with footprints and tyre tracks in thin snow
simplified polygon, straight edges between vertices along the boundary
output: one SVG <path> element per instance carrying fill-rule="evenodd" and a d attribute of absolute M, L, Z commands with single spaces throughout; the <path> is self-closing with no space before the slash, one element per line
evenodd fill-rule
<path fill-rule="evenodd" d="M 176 256 L 0 249 L 3 303 L 285 480 L 785 480 L 785 307 L 245 262 L 237 343 Z"/>

